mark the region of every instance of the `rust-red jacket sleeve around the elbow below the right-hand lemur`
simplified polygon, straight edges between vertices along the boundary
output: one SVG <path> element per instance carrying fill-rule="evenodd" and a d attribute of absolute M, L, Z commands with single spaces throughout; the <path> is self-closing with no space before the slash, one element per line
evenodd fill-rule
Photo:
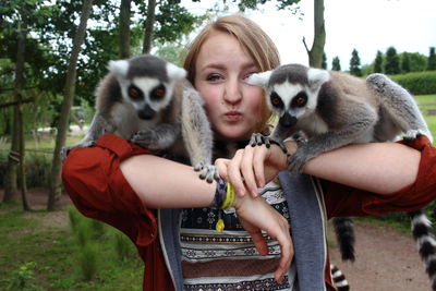
<path fill-rule="evenodd" d="M 327 182 L 324 189 L 329 218 L 411 211 L 421 209 L 436 199 L 436 148 L 431 145 L 426 136 L 421 136 L 413 142 L 399 143 L 421 151 L 415 182 L 389 195 Z"/>

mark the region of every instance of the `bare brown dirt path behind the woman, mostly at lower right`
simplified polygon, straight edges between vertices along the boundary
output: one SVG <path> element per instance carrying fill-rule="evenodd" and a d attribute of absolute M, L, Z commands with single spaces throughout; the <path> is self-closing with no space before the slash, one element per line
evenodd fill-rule
<path fill-rule="evenodd" d="M 3 191 L 0 190 L 0 201 Z M 47 193 L 29 191 L 28 201 L 33 209 L 45 209 Z M 61 209 L 71 205 L 68 195 L 62 195 Z M 65 210 L 53 213 L 29 213 L 44 225 L 68 226 Z M 411 234 L 391 227 L 355 222 L 356 260 L 342 263 L 337 247 L 330 247 L 330 262 L 347 276 L 352 291 L 426 291 L 431 290 L 424 265 L 419 257 Z"/>

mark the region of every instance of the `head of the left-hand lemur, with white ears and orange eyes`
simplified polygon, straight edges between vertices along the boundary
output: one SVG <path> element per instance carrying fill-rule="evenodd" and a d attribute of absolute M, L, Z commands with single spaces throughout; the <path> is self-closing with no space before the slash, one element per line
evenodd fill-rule
<path fill-rule="evenodd" d="M 117 75 L 123 99 L 145 120 L 170 104 L 175 82 L 186 75 L 185 70 L 153 56 L 112 61 L 109 69 Z"/>

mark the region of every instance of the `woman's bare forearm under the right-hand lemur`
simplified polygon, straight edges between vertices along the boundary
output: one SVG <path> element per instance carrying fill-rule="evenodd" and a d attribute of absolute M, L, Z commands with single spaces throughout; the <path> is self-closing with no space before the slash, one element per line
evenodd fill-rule
<path fill-rule="evenodd" d="M 379 193 L 395 193 L 417 175 L 420 151 L 397 143 L 344 146 L 310 160 L 303 172 Z"/>

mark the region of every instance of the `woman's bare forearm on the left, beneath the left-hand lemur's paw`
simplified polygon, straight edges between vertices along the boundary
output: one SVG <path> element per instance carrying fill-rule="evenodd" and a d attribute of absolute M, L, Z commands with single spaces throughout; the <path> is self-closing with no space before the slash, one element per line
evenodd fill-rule
<path fill-rule="evenodd" d="M 184 208 L 210 205 L 216 182 L 198 178 L 192 167 L 153 155 L 138 155 L 120 165 L 129 184 L 149 208 Z"/>

